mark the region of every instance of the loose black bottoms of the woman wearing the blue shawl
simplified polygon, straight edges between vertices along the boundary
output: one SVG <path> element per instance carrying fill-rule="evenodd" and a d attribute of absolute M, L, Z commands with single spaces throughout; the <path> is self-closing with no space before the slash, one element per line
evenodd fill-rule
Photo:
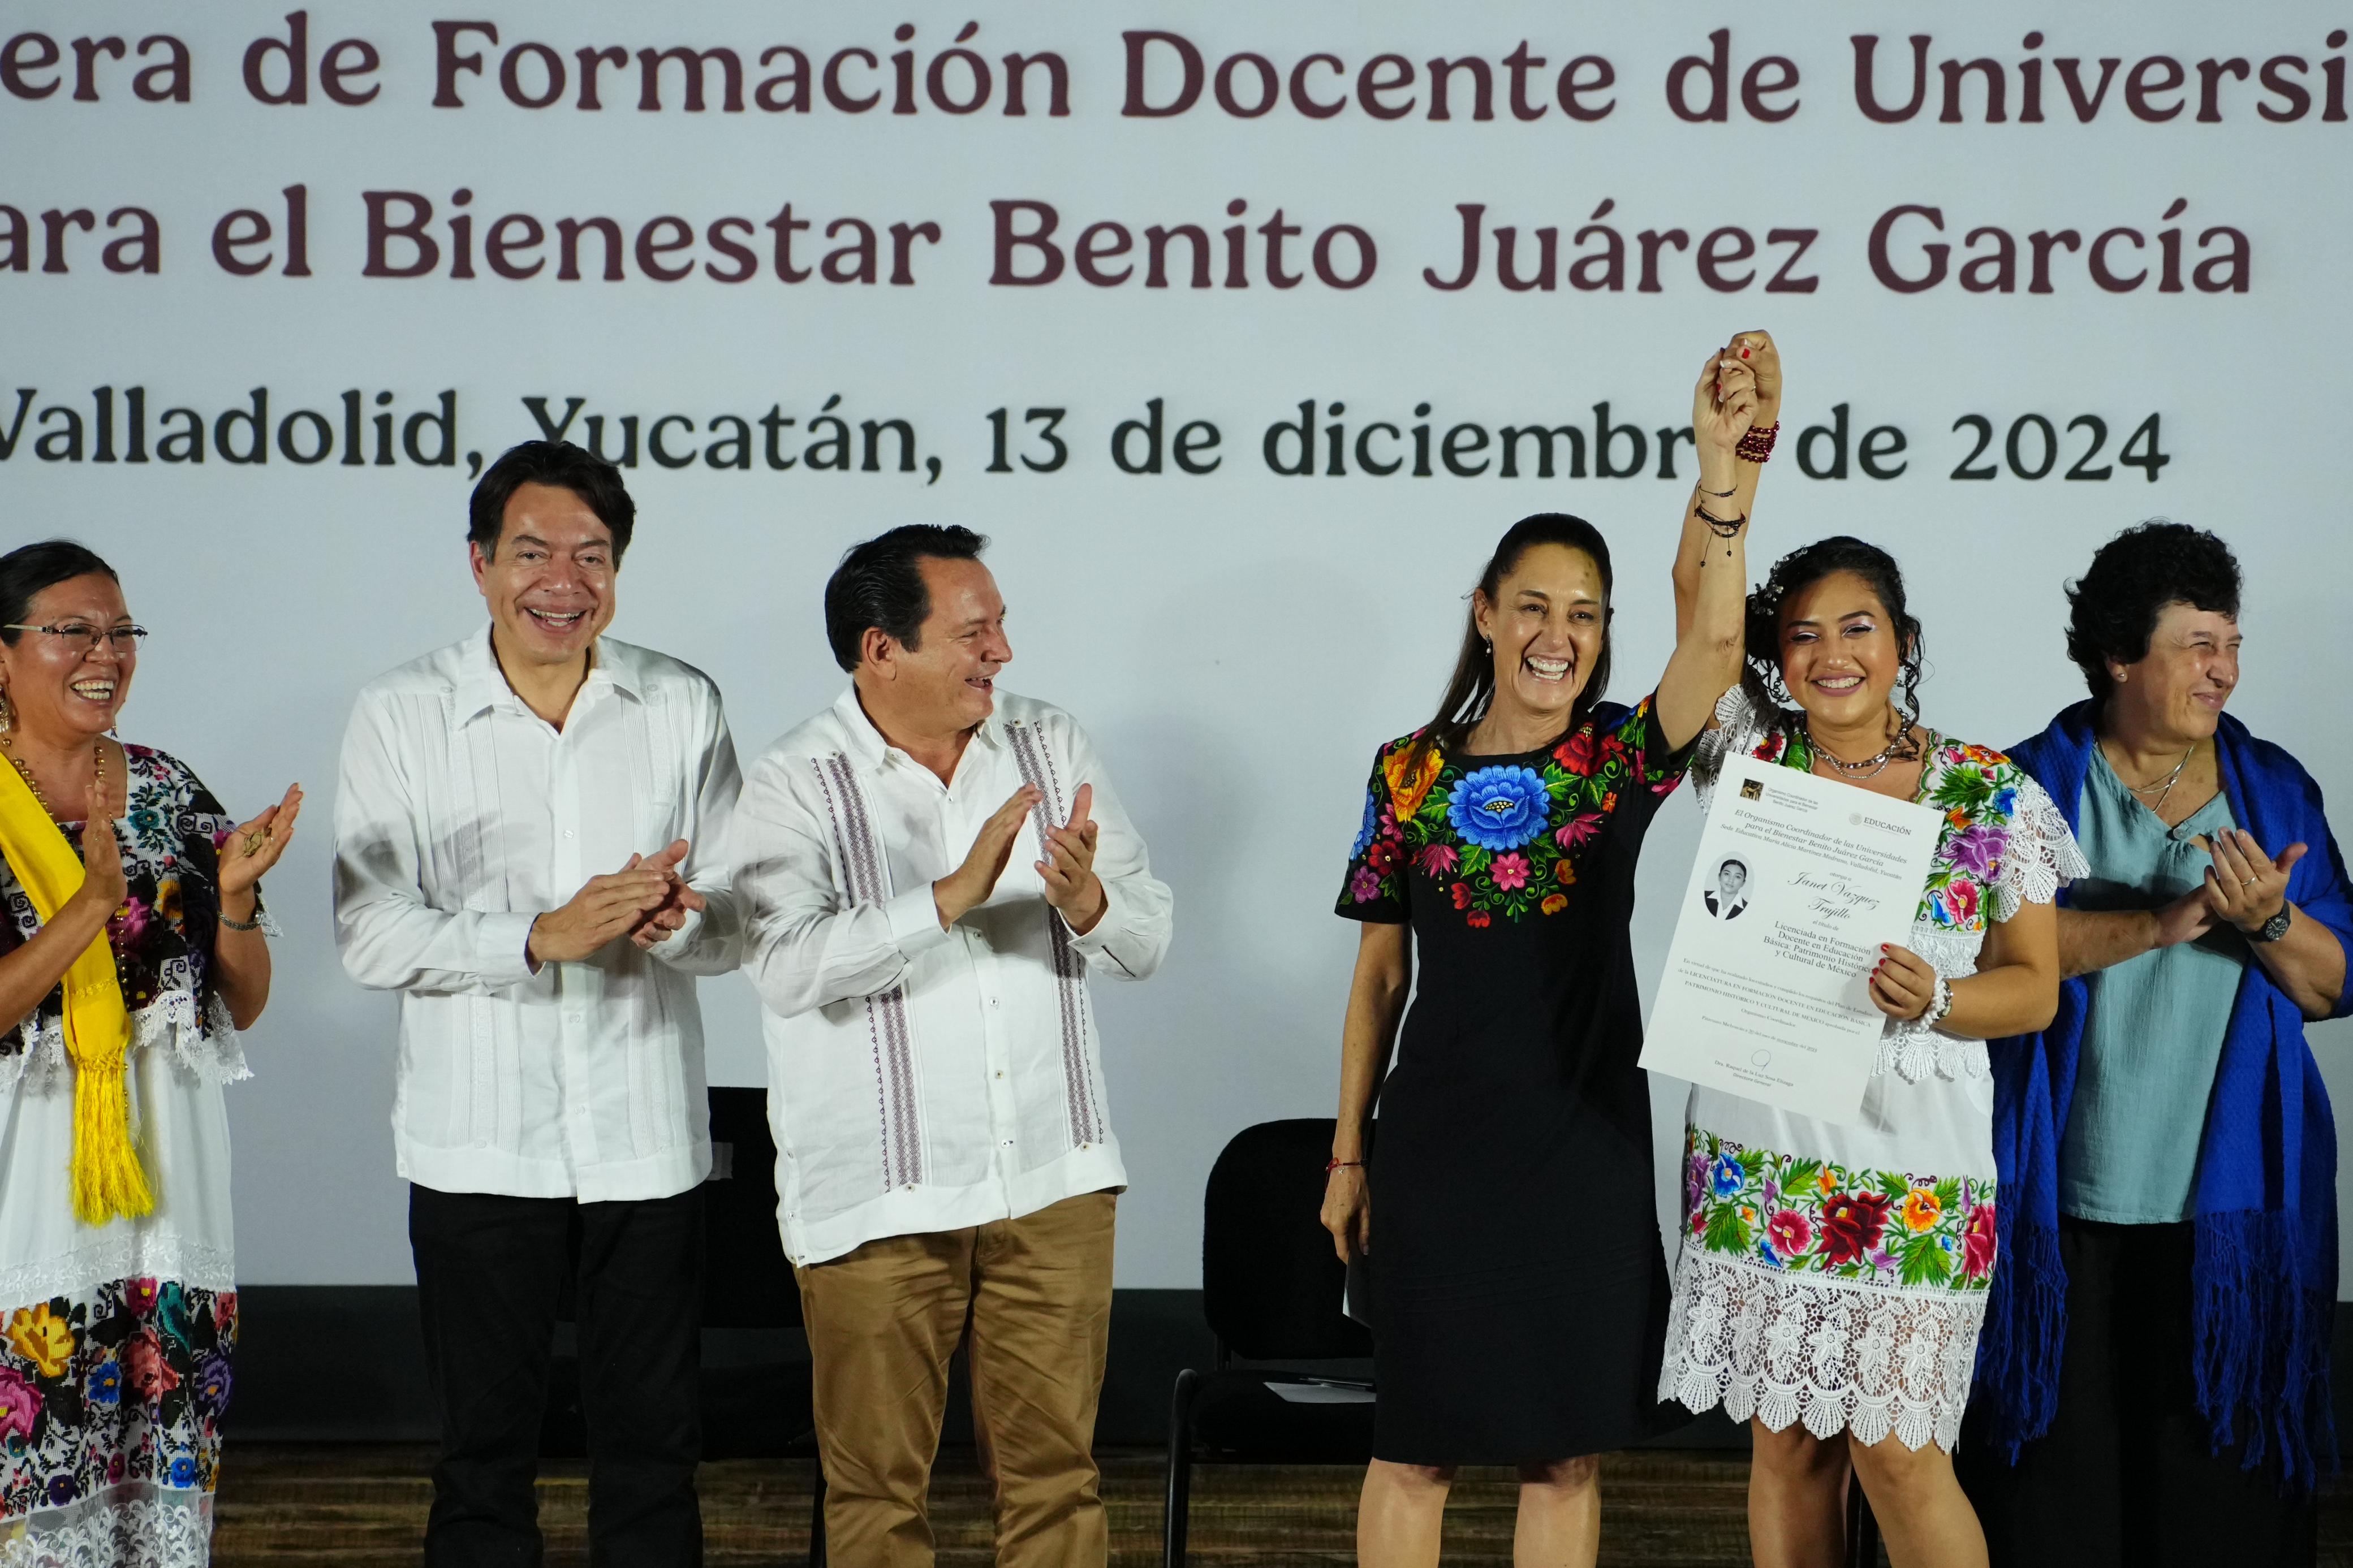
<path fill-rule="evenodd" d="M 2214 1450 L 2191 1371 L 2191 1227 L 2059 1220 L 2066 1356 L 2017 1467 L 1972 1429 L 1960 1481 L 1993 1568 L 2304 1568 L 2320 1514 L 2278 1465 Z"/>

